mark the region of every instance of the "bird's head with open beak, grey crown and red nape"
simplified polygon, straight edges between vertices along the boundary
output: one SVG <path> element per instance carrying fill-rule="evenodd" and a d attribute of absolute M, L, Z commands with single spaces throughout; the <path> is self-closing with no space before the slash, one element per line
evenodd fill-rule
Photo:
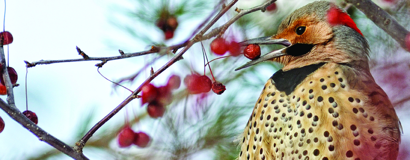
<path fill-rule="evenodd" d="M 310 64 L 334 62 L 368 68 L 369 46 L 355 22 L 330 1 L 315 1 L 297 9 L 279 25 L 276 35 L 240 42 L 281 44 L 285 48 L 267 53 L 239 67 L 273 60 L 284 71 Z"/>

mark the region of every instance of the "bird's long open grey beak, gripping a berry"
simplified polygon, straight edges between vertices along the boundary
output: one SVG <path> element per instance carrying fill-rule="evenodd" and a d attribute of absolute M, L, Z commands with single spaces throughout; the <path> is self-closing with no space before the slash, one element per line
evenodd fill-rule
<path fill-rule="evenodd" d="M 245 41 L 239 42 L 240 46 L 245 46 L 245 45 L 249 45 L 249 44 L 280 44 L 280 45 L 283 45 L 283 46 L 286 46 L 286 47 L 282 48 L 282 49 L 279 49 L 279 50 L 269 52 L 269 53 L 259 57 L 258 59 L 250 61 L 250 62 L 246 63 L 245 65 L 235 69 L 235 71 L 238 71 L 238 70 L 243 69 L 243 68 L 247 68 L 247 67 L 255 65 L 259 62 L 263 62 L 263 61 L 266 61 L 266 60 L 269 60 L 269 59 L 272 59 L 272 58 L 275 58 L 275 57 L 285 55 L 286 52 L 284 52 L 283 50 L 285 50 L 287 47 L 292 45 L 292 43 L 289 42 L 289 40 L 272 39 L 272 37 L 261 37 L 261 38 L 256 38 L 256 39 L 245 40 Z"/>

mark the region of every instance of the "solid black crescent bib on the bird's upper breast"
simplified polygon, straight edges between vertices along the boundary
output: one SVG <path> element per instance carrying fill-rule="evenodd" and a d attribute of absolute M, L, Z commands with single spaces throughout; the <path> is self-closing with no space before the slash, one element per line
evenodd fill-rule
<path fill-rule="evenodd" d="M 311 73 L 319 69 L 324 64 L 325 63 L 312 64 L 289 71 L 279 70 L 278 72 L 273 74 L 270 79 L 274 81 L 275 86 L 279 91 L 284 91 L 287 95 L 289 95 L 295 90 L 296 86 L 299 83 L 305 80 L 306 77 L 308 77 Z"/>

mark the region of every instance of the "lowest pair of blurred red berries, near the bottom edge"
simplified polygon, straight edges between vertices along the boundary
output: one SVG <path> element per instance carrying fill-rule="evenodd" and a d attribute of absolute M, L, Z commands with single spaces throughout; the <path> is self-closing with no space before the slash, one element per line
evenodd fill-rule
<path fill-rule="evenodd" d="M 150 142 L 150 136 L 144 132 L 134 132 L 131 127 L 125 126 L 118 134 L 118 145 L 121 148 L 129 147 L 132 144 L 138 147 L 147 147 Z"/>

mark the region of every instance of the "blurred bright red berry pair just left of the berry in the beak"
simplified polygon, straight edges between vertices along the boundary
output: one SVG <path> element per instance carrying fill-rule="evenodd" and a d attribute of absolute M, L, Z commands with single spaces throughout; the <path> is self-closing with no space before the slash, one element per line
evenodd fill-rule
<path fill-rule="evenodd" d="M 227 42 L 223 38 L 216 38 L 210 43 L 211 51 L 217 55 L 224 55 L 227 51 L 233 56 L 240 55 L 240 46 L 238 42 Z"/>

